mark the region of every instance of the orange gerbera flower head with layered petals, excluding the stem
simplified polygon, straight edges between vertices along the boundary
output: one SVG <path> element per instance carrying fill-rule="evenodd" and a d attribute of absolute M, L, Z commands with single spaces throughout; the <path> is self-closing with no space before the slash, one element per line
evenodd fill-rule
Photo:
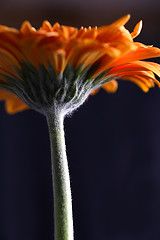
<path fill-rule="evenodd" d="M 81 27 L 79 30 L 60 26 L 58 23 L 51 26 L 48 21 L 44 21 L 39 30 L 27 21 L 20 30 L 0 26 L 0 100 L 5 100 L 7 112 L 15 113 L 32 107 L 31 102 L 34 101 L 39 101 L 36 105 L 33 103 L 33 108 L 38 108 L 42 101 L 39 97 L 41 93 L 36 91 L 40 89 L 44 92 L 44 86 L 48 84 L 45 79 L 40 79 L 46 76 L 50 78 L 51 75 L 56 75 L 61 81 L 63 78 L 63 94 L 58 97 L 61 98 L 61 105 L 62 99 L 65 99 L 65 103 L 71 101 L 71 97 L 67 98 L 67 93 L 72 85 L 75 85 L 76 94 L 83 95 L 80 102 L 89 94 L 96 93 L 100 87 L 107 92 L 115 92 L 118 87 L 116 79 L 119 78 L 136 83 L 145 92 L 153 87 L 154 83 L 160 86 L 155 78 L 155 74 L 160 76 L 160 66 L 141 61 L 159 57 L 160 49 L 134 42 L 133 39 L 141 31 L 142 22 L 130 33 L 124 27 L 129 18 L 127 15 L 108 26 Z M 51 71 L 54 74 L 51 74 Z M 78 74 L 81 74 L 81 77 L 78 77 Z M 72 75 L 81 79 L 81 83 L 77 83 Z M 66 76 L 70 78 L 68 85 Z M 32 83 L 28 78 L 32 79 Z M 59 84 L 59 80 L 56 81 L 54 84 Z M 83 87 L 85 89 L 85 86 L 87 92 L 81 90 Z M 61 85 L 56 91 L 54 94 L 58 96 L 56 94 L 62 92 Z M 47 93 L 44 94 L 43 97 L 47 98 Z M 51 92 L 49 94 L 51 95 Z M 74 94 L 72 89 L 73 98 L 77 99 L 79 96 L 75 97 Z M 74 104 L 72 101 L 72 105 Z"/>

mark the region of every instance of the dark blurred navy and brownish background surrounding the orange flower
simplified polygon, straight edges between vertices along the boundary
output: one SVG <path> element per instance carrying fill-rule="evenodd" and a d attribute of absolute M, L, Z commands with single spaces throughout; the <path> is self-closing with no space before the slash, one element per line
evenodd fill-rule
<path fill-rule="evenodd" d="M 136 39 L 160 47 L 159 0 L 1 0 L 0 24 L 107 25 L 130 13 Z M 158 62 L 159 60 L 156 59 Z M 65 120 L 75 240 L 160 239 L 160 90 L 119 82 Z M 7 115 L 0 104 L 0 239 L 53 240 L 50 147 L 45 118 Z"/>

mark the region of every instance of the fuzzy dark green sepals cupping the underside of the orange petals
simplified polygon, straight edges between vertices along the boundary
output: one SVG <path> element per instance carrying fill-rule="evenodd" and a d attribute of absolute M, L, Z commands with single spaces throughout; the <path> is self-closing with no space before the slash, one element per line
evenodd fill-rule
<path fill-rule="evenodd" d="M 63 114 L 72 112 L 87 99 L 89 94 L 104 83 L 113 79 L 104 71 L 92 77 L 99 67 L 99 62 L 77 69 L 67 64 L 64 72 L 56 74 L 52 65 L 39 65 L 22 62 L 21 68 L 14 67 L 13 74 L 0 76 L 0 87 L 16 94 L 30 108 L 41 113 L 58 108 Z"/>

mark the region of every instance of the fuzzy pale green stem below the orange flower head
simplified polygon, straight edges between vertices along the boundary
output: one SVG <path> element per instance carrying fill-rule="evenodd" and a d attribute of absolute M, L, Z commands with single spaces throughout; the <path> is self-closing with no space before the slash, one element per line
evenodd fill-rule
<path fill-rule="evenodd" d="M 55 240 L 73 240 L 72 199 L 63 129 L 64 117 L 56 110 L 47 112 L 46 117 L 51 144 Z"/>

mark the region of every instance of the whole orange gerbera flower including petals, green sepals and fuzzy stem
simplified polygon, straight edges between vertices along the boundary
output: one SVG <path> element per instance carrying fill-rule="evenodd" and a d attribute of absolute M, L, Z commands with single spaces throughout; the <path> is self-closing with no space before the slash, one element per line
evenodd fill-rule
<path fill-rule="evenodd" d="M 117 79 L 143 91 L 156 83 L 160 65 L 141 61 L 160 49 L 136 43 L 139 22 L 130 33 L 129 15 L 109 26 L 51 26 L 39 30 L 24 22 L 20 30 L 0 26 L 0 100 L 9 113 L 32 108 L 46 115 L 50 133 L 55 240 L 73 240 L 72 203 L 63 119 L 100 87 L 115 92 Z"/>

